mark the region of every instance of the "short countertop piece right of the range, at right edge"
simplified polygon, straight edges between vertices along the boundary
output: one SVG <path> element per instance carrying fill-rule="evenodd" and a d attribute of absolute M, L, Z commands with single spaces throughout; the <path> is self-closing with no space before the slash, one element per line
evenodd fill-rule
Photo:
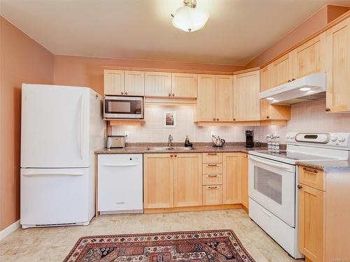
<path fill-rule="evenodd" d="M 297 161 L 298 166 L 306 166 L 325 172 L 347 171 L 350 172 L 349 160 L 334 160 L 334 161 Z"/>

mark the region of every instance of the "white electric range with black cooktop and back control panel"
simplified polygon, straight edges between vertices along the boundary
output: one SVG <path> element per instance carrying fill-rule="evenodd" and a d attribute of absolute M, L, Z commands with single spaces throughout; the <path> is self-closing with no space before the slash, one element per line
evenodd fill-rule
<path fill-rule="evenodd" d="M 288 133 L 286 150 L 248 154 L 249 217 L 295 259 L 297 161 L 349 159 L 350 133 Z"/>

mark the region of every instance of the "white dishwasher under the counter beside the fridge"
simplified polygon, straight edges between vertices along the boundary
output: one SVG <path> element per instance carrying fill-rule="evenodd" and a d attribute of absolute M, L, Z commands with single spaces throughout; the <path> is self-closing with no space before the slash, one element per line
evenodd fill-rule
<path fill-rule="evenodd" d="M 144 212 L 142 154 L 97 156 L 99 214 Z"/>

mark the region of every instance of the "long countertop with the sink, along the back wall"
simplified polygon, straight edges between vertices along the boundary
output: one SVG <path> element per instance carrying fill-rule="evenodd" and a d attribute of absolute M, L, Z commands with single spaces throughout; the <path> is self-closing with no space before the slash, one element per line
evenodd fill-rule
<path fill-rule="evenodd" d="M 213 147 L 211 143 L 193 143 L 193 150 L 147 150 L 149 147 L 166 147 L 165 143 L 130 143 L 124 148 L 96 150 L 95 154 L 158 154 L 158 153 L 221 153 L 242 152 L 251 150 L 267 150 L 265 145 L 261 147 L 247 148 L 244 143 L 225 143 L 223 147 Z M 183 147 L 183 143 L 173 143 L 174 147 Z"/>

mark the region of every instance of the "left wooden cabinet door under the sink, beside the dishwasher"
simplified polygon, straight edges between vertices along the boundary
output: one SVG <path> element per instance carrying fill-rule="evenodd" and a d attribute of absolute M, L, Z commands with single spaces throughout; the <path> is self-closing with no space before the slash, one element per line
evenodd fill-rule
<path fill-rule="evenodd" d="M 144 154 L 144 208 L 174 207 L 174 157 Z"/>

